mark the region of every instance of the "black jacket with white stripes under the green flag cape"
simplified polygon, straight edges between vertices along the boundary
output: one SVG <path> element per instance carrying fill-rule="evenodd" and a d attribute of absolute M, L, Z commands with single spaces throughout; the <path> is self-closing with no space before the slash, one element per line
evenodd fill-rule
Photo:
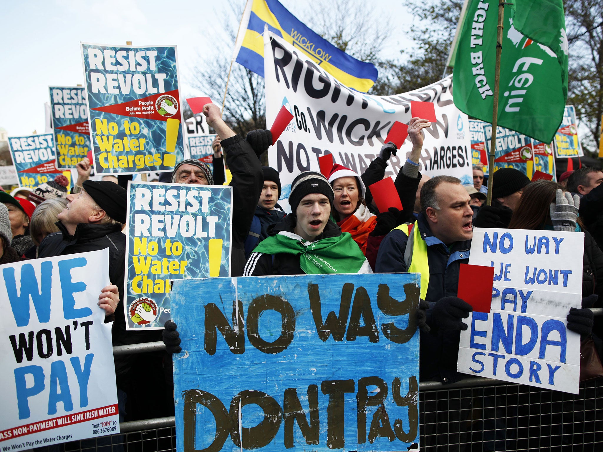
<path fill-rule="evenodd" d="M 287 215 L 277 224 L 268 228 L 268 234 L 274 236 L 280 231 L 293 232 L 295 229 L 295 216 Z M 317 240 L 341 235 L 341 228 L 329 220 L 324 231 Z M 266 276 L 266 275 L 305 275 L 300 267 L 300 257 L 294 254 L 264 254 L 251 253 L 243 276 Z"/>

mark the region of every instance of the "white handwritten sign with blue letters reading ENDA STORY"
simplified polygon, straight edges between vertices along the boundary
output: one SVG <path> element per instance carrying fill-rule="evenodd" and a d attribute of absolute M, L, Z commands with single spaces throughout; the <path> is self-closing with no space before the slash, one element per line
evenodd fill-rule
<path fill-rule="evenodd" d="M 578 394 L 566 317 L 581 307 L 583 251 L 583 233 L 475 228 L 469 263 L 494 267 L 492 304 L 464 321 L 457 370 Z"/>

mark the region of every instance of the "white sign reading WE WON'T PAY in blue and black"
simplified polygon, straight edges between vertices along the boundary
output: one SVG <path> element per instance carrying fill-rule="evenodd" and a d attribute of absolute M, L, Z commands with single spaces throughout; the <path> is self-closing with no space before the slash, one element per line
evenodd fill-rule
<path fill-rule="evenodd" d="M 1 270 L 2 450 L 119 433 L 113 324 L 97 304 L 109 285 L 109 251 Z"/>

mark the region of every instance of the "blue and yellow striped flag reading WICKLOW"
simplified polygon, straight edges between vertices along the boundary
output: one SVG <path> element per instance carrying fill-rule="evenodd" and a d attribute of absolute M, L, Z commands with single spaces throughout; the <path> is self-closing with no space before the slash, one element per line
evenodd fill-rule
<path fill-rule="evenodd" d="M 377 80 L 374 64 L 356 60 L 302 24 L 277 0 L 248 0 L 235 46 L 236 62 L 264 77 L 264 26 L 300 49 L 346 86 L 367 92 Z"/>

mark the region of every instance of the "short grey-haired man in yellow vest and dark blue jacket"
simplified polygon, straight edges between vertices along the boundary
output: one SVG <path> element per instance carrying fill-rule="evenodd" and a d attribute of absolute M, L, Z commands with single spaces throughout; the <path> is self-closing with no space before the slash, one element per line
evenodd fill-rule
<path fill-rule="evenodd" d="M 431 331 L 421 331 L 421 380 L 453 383 L 461 319 L 472 311 L 456 297 L 461 263 L 469 262 L 473 237 L 471 198 L 455 177 L 437 176 L 421 188 L 421 212 L 414 225 L 391 231 L 379 246 L 375 271 L 421 274 L 421 305 Z M 427 302 L 427 303 L 426 303 Z"/>

